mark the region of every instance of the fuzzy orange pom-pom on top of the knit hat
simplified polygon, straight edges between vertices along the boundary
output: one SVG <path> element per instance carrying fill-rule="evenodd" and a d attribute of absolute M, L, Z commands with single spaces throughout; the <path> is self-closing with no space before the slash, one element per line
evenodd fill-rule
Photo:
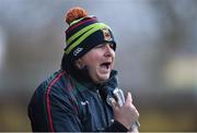
<path fill-rule="evenodd" d="M 88 12 L 84 9 L 80 7 L 76 7 L 67 12 L 66 22 L 70 24 L 78 19 L 86 17 L 86 16 L 88 16 Z"/>

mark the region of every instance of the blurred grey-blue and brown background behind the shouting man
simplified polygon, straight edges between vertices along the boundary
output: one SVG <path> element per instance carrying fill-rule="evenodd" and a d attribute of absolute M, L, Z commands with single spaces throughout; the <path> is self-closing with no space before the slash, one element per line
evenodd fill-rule
<path fill-rule="evenodd" d="M 60 68 L 76 5 L 112 27 L 140 131 L 197 131 L 197 0 L 0 0 L 0 131 L 31 131 L 27 104 Z"/>

